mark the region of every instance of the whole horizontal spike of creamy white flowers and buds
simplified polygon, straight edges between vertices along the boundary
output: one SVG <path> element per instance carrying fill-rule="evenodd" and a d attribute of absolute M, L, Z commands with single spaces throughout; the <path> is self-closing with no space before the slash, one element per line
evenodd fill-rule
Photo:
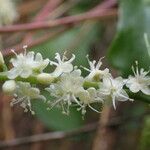
<path fill-rule="evenodd" d="M 18 103 L 25 112 L 30 110 L 34 114 L 31 108 L 32 99 L 42 99 L 49 104 L 49 109 L 60 107 L 64 114 L 69 114 L 69 108 L 75 106 L 84 115 L 87 107 L 99 112 L 94 108 L 93 103 L 97 105 L 112 103 L 116 109 L 118 101 L 133 101 L 129 98 L 126 89 L 133 93 L 141 91 L 150 95 L 149 72 L 144 71 L 143 68 L 139 70 L 138 65 L 135 69 L 132 68 L 133 76 L 127 79 L 114 78 L 108 68 L 101 69 L 102 59 L 96 62 L 90 61 L 87 57 L 89 68 L 81 68 L 88 74 L 83 77 L 81 68 L 72 64 L 75 55 L 68 59 L 65 54 L 61 58 L 60 54 L 56 53 L 56 61 L 52 61 L 43 59 L 40 53 L 27 53 L 26 47 L 24 49 L 24 53 L 15 53 L 16 57 L 10 60 L 12 68 L 1 74 L 6 75 L 3 91 L 14 95 L 11 106 Z M 1 65 L 5 63 L 2 56 L 0 59 Z M 53 72 L 44 72 L 48 65 L 56 66 Z M 40 88 L 37 87 L 39 84 L 46 86 L 44 89 L 53 97 L 52 100 L 46 100 L 40 94 Z"/>

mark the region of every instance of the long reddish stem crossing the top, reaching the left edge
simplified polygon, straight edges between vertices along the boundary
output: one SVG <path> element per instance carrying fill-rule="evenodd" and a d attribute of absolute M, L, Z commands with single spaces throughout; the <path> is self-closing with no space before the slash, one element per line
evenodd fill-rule
<path fill-rule="evenodd" d="M 60 19 L 55 19 L 52 21 L 45 21 L 45 22 L 33 22 L 33 23 L 26 23 L 26 24 L 20 24 L 20 25 L 11 25 L 6 27 L 0 28 L 0 33 L 12 33 L 12 32 L 19 32 L 19 31 L 33 31 L 33 30 L 39 30 L 39 29 L 48 29 L 52 27 L 62 26 L 62 25 L 68 25 L 68 24 L 74 24 L 78 22 L 82 22 L 85 20 L 93 20 L 93 19 L 110 19 L 112 17 L 117 16 L 117 10 L 116 9 L 110 9 L 107 10 L 104 9 L 103 11 L 90 11 L 86 12 L 80 15 L 74 15 L 74 16 L 68 16 L 63 17 Z"/>

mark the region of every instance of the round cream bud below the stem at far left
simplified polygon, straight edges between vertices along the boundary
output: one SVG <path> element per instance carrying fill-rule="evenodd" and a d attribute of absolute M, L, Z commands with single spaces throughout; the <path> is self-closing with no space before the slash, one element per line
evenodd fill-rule
<path fill-rule="evenodd" d="M 16 89 L 16 82 L 14 80 L 8 80 L 3 84 L 2 89 L 6 94 L 13 94 Z"/>

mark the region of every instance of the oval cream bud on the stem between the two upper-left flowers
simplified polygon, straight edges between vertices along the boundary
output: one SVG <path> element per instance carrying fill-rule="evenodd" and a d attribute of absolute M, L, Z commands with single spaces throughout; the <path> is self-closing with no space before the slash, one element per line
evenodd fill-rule
<path fill-rule="evenodd" d="M 37 80 L 41 83 L 41 84 L 50 84 L 55 80 L 55 77 L 53 77 L 51 74 L 49 73 L 41 73 L 37 76 Z"/>

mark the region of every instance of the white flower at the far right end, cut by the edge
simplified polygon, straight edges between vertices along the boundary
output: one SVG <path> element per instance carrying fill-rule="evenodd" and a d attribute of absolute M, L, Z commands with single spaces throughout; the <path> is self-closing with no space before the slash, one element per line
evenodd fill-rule
<path fill-rule="evenodd" d="M 133 93 L 142 91 L 144 94 L 150 95 L 150 77 L 147 75 L 149 72 L 144 71 L 143 68 L 139 71 L 138 66 L 136 66 L 136 70 L 132 69 L 134 76 L 129 76 L 126 86 Z"/>

